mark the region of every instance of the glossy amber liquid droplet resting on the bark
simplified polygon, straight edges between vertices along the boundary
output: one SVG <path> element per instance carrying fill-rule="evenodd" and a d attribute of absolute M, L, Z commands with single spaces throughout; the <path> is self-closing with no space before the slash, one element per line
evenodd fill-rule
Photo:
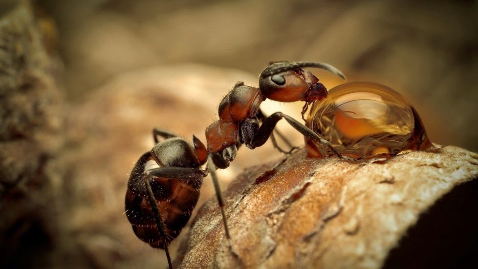
<path fill-rule="evenodd" d="M 306 126 L 352 157 L 431 147 L 415 108 L 397 91 L 374 82 L 349 82 L 331 89 L 327 98 L 312 105 Z M 321 144 L 306 142 L 309 156 L 330 155 Z"/>

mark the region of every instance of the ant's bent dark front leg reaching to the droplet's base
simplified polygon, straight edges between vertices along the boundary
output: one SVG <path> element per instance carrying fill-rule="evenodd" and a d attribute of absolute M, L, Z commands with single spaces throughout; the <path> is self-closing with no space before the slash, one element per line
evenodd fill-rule
<path fill-rule="evenodd" d="M 253 147 L 260 147 L 262 146 L 267 139 L 271 136 L 272 131 L 275 128 L 275 125 L 280 119 L 285 119 L 295 130 L 299 131 L 302 135 L 309 137 L 310 139 L 315 140 L 318 143 L 323 144 L 324 146 L 328 147 L 334 154 L 336 154 L 339 158 L 341 159 L 346 159 L 346 160 L 357 160 L 356 158 L 351 158 L 347 156 L 343 156 L 340 154 L 333 146 L 332 144 L 325 140 L 320 138 L 314 131 L 310 130 L 307 128 L 305 125 L 302 125 L 302 123 L 298 122 L 291 116 L 288 116 L 282 112 L 275 112 L 274 114 L 270 115 L 264 120 L 264 123 L 262 126 L 260 126 L 259 130 L 257 131 L 256 136 L 254 137 L 254 140 L 252 141 L 252 146 Z"/>

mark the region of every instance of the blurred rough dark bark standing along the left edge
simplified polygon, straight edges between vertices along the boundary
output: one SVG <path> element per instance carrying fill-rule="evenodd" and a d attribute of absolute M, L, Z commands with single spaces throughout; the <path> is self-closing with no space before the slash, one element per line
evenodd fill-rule
<path fill-rule="evenodd" d="M 56 242 L 59 178 L 52 159 L 62 142 L 58 62 L 26 3 L 0 17 L 0 266 L 27 266 Z M 10 263 L 12 262 L 13 263 Z M 16 265 L 15 265 L 16 264 Z"/>

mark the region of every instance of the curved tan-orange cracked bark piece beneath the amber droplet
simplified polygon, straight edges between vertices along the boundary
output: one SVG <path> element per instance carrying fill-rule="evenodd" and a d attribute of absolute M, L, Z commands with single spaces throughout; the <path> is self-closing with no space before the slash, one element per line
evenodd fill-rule
<path fill-rule="evenodd" d="M 465 202 L 459 208 L 433 209 L 459 184 L 476 177 L 478 155 L 457 147 L 356 163 L 307 158 L 302 149 L 247 170 L 225 192 L 231 243 L 240 259 L 228 250 L 218 205 L 211 199 L 193 221 L 180 264 L 183 268 L 380 268 L 387 258 L 388 267 L 476 263 L 471 256 L 478 239 L 476 182 L 460 195 Z M 423 239 L 420 234 L 433 231 L 431 238 L 443 237 L 445 245 L 430 240 L 430 244 L 421 242 L 423 249 L 409 243 L 400 249 L 410 227 L 430 218 L 432 214 L 425 212 L 437 210 L 441 218 L 410 235 Z M 446 221 L 448 217 L 454 222 Z M 449 229 L 453 236 L 446 241 Z M 461 252 L 455 253 L 457 248 Z M 437 256 L 442 249 L 444 255 Z M 418 259 L 395 260 L 407 251 Z"/>

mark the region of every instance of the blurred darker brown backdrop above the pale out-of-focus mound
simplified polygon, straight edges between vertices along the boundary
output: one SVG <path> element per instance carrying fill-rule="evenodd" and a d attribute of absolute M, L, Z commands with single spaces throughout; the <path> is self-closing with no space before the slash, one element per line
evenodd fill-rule
<path fill-rule="evenodd" d="M 39 4 L 58 24 L 71 100 L 148 66 L 193 62 L 259 74 L 269 60 L 323 61 L 349 81 L 372 80 L 403 93 L 432 141 L 478 150 L 476 1 Z"/>

